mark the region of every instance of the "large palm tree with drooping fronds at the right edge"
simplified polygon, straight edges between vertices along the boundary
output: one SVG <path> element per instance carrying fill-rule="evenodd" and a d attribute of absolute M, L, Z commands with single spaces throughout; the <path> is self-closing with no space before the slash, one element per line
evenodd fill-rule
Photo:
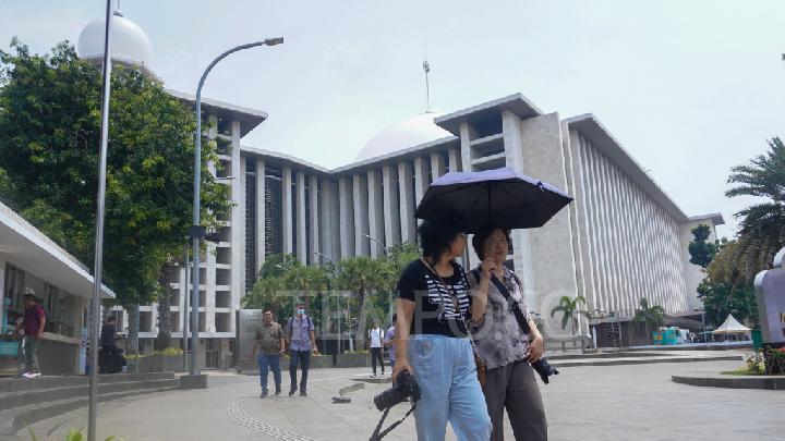
<path fill-rule="evenodd" d="M 769 140 L 769 146 L 771 149 L 753 158 L 750 164 L 732 169 L 728 183 L 737 186 L 725 192 L 725 196 L 768 200 L 736 213 L 741 219 L 737 241 L 723 249 L 722 258 L 715 259 L 715 268 L 710 269 L 712 279 L 721 277 L 730 284 L 739 278 L 752 280 L 761 270 L 771 268 L 774 255 L 785 245 L 785 145 L 775 137 Z"/>

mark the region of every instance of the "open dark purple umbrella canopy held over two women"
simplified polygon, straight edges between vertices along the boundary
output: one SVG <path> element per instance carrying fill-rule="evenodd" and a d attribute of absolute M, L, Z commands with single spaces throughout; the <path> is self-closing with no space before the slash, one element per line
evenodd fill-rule
<path fill-rule="evenodd" d="M 467 233 L 488 222 L 510 230 L 531 229 L 544 225 L 571 200 L 553 185 L 505 167 L 438 177 L 428 186 L 414 217 L 433 219 L 457 212 L 467 221 Z"/>

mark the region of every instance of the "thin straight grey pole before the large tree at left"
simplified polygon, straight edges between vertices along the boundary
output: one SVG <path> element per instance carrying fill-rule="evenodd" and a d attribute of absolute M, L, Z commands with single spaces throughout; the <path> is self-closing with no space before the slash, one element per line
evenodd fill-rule
<path fill-rule="evenodd" d="M 109 96 L 111 94 L 111 0 L 107 0 L 104 32 L 104 96 L 101 97 L 101 133 L 98 159 L 98 196 L 96 204 L 95 268 L 93 272 L 93 322 L 90 329 L 90 378 L 87 415 L 87 440 L 96 439 L 98 417 L 98 332 L 100 322 L 101 272 L 104 271 L 104 209 L 106 200 L 106 162 L 109 144 Z"/>

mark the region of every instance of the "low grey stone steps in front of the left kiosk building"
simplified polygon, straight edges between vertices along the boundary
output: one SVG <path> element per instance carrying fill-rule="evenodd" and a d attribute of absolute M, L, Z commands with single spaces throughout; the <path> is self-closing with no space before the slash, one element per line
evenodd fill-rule
<path fill-rule="evenodd" d="M 172 372 L 98 376 L 98 401 L 106 402 L 180 388 Z M 0 440 L 17 440 L 16 432 L 44 419 L 86 407 L 87 377 L 0 379 Z"/>

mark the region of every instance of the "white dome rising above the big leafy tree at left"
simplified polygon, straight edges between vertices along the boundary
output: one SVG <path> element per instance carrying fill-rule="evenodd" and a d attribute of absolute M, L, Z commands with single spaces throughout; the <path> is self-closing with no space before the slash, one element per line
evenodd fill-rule
<path fill-rule="evenodd" d="M 104 59 L 105 26 L 104 19 L 96 19 L 82 29 L 76 45 L 76 52 L 81 59 Z M 111 52 L 114 62 L 131 64 L 152 72 L 153 46 L 147 34 L 119 12 L 114 13 L 112 21 Z"/>

